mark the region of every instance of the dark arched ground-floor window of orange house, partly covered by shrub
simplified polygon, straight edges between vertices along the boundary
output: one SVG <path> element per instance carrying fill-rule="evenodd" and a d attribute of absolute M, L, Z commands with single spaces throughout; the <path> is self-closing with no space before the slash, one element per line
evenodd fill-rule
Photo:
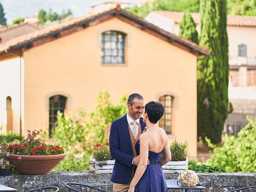
<path fill-rule="evenodd" d="M 64 112 L 66 108 L 66 97 L 55 95 L 49 100 L 49 136 L 53 133 L 53 128 L 56 126 L 57 112 Z"/>

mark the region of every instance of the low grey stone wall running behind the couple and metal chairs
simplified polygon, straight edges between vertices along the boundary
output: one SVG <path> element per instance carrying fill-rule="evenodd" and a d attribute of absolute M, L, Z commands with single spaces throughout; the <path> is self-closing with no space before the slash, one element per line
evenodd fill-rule
<path fill-rule="evenodd" d="M 178 174 L 164 174 L 166 179 L 176 179 Z M 111 174 L 93 174 L 89 171 L 49 172 L 45 175 L 22 175 L 12 173 L 11 176 L 0 176 L 0 184 L 24 192 L 45 186 L 57 186 L 65 192 L 65 182 L 76 182 L 112 191 Z M 200 184 L 206 186 L 206 192 L 225 192 L 234 188 L 256 185 L 256 173 L 198 173 Z M 90 190 L 87 190 L 88 192 Z M 169 190 L 175 191 L 175 190 Z M 178 190 L 176 190 L 178 192 Z"/>

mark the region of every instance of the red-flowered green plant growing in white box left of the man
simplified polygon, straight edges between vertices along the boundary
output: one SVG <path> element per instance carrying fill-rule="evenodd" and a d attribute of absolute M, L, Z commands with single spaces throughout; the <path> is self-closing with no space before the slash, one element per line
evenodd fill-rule
<path fill-rule="evenodd" d="M 106 142 L 105 145 L 98 143 L 96 147 L 94 147 L 93 157 L 97 161 L 112 160 L 113 158 L 110 156 L 109 143 Z"/>

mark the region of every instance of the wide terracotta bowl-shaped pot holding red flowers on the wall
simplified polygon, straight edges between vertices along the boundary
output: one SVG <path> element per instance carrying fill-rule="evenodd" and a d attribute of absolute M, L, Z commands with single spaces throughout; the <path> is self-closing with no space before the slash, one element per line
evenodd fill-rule
<path fill-rule="evenodd" d="M 13 163 L 18 161 L 18 156 L 21 160 L 15 166 L 15 169 L 25 175 L 42 175 L 48 173 L 54 168 L 64 157 L 66 153 L 58 155 L 13 155 L 10 154 L 8 160 Z"/>

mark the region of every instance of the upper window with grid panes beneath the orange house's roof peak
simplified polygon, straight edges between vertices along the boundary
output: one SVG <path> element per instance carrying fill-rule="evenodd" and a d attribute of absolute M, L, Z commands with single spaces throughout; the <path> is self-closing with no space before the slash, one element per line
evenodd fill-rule
<path fill-rule="evenodd" d="M 124 63 L 124 34 L 117 31 L 102 33 L 101 62 Z"/>

